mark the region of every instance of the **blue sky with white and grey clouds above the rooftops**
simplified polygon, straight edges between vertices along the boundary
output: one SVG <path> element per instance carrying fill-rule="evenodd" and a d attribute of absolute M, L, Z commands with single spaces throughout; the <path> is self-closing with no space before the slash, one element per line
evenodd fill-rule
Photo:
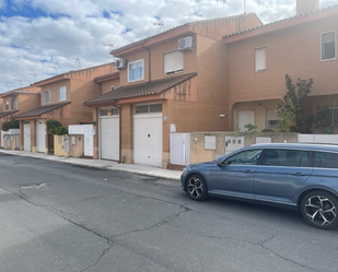
<path fill-rule="evenodd" d="M 244 2 L 264 23 L 295 15 L 295 0 L 0 0 L 0 93 L 110 62 L 110 49 L 186 22 L 241 14 Z"/>

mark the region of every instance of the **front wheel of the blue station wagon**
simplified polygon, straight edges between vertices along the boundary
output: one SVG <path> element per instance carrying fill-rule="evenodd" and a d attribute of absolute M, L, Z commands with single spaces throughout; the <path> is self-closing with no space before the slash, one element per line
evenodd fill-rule
<path fill-rule="evenodd" d="M 188 176 L 186 181 L 186 191 L 189 197 L 196 201 L 203 201 L 209 197 L 206 180 L 197 174 Z"/>

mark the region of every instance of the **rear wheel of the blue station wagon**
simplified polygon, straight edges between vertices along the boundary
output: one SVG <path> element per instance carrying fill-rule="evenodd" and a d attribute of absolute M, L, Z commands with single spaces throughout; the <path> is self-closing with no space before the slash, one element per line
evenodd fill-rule
<path fill-rule="evenodd" d="M 320 229 L 330 229 L 338 226 L 338 199 L 326 191 L 312 191 L 301 202 L 301 212 L 304 220 L 312 226 Z"/>

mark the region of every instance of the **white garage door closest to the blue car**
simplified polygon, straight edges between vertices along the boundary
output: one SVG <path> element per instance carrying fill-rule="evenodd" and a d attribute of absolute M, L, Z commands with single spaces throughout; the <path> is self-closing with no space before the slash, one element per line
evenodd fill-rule
<path fill-rule="evenodd" d="M 162 167 L 162 114 L 135 115 L 133 162 Z"/>

